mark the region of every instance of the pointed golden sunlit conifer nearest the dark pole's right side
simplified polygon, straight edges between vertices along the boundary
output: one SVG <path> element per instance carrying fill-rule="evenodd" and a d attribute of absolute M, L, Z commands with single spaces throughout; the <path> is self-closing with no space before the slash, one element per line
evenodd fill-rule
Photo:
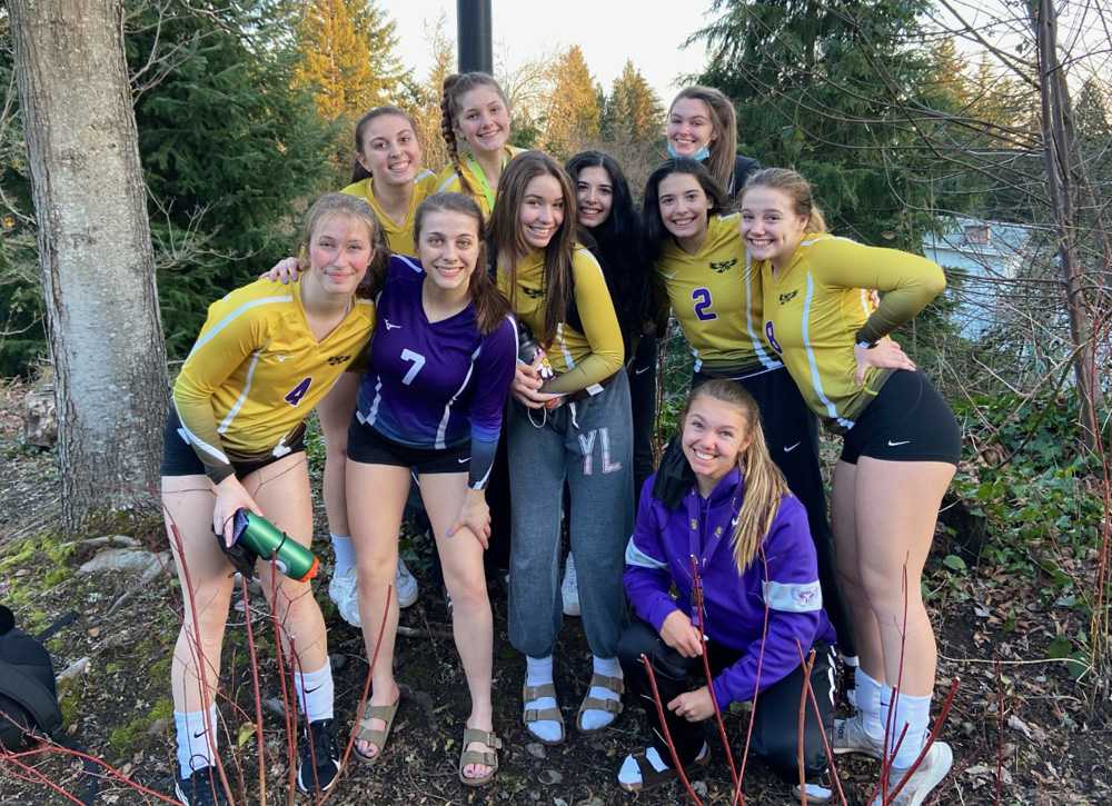
<path fill-rule="evenodd" d="M 546 115 L 544 148 L 566 159 L 598 138 L 599 106 L 595 82 L 579 46 L 573 44 L 554 66 L 552 100 Z"/>

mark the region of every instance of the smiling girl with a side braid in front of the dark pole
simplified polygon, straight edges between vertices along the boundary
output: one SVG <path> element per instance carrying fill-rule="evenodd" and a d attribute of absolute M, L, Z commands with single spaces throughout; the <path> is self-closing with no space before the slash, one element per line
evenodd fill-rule
<path fill-rule="evenodd" d="M 449 162 L 437 177 L 437 191 L 475 199 L 490 218 L 502 172 L 523 149 L 509 145 L 509 102 L 492 76 L 455 73 L 444 80 L 440 131 Z M 459 152 L 459 140 L 467 146 Z"/>

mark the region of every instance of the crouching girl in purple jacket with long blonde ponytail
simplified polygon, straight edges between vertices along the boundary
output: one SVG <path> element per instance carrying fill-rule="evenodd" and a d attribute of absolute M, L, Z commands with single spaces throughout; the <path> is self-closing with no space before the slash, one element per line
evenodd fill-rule
<path fill-rule="evenodd" d="M 676 777 L 642 656 L 653 665 L 681 764 L 706 760 L 703 724 L 714 717 L 715 703 L 724 712 L 756 698 L 749 747 L 797 783 L 800 660 L 814 647 L 811 688 L 822 719 L 807 708 L 803 763 L 811 803 L 825 803 L 822 733 L 833 705 L 834 630 L 823 611 L 806 510 L 770 457 L 757 405 L 741 386 L 716 379 L 695 388 L 681 422 L 695 482 L 669 505 L 653 496 L 649 477 L 626 546 L 625 589 L 637 618 L 622 634 L 618 656 L 629 688 L 642 695 L 653 743 L 626 756 L 618 784 L 639 792 Z M 693 559 L 702 613 L 693 604 Z"/>

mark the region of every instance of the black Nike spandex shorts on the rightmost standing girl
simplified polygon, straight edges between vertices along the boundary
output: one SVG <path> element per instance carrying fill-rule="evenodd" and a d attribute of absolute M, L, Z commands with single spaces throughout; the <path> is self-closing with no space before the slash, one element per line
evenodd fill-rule
<path fill-rule="evenodd" d="M 942 395 L 925 375 L 898 369 L 845 435 L 840 459 L 867 456 L 885 461 L 945 461 L 956 466 L 962 431 Z"/>

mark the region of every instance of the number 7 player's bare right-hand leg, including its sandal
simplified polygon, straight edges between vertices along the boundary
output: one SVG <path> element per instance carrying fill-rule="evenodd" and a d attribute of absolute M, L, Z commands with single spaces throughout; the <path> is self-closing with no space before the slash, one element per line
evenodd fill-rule
<path fill-rule="evenodd" d="M 471 695 L 467 727 L 493 730 L 490 678 L 494 665 L 494 619 L 483 571 L 483 546 L 469 529 L 460 529 L 447 537 L 448 529 L 464 505 L 467 474 L 421 475 L 420 489 L 440 554 L 444 584 L 451 596 L 451 631 Z M 464 749 L 492 749 L 483 743 L 474 744 L 474 747 Z M 464 768 L 464 775 L 469 778 L 481 778 L 489 772 L 490 768 L 483 764 L 469 764 Z"/>

